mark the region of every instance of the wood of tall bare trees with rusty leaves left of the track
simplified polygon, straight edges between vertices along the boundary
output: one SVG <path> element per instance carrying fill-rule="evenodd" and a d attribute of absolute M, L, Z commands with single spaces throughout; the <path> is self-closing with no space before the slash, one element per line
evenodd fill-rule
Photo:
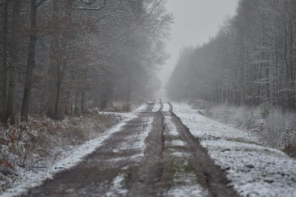
<path fill-rule="evenodd" d="M 0 120 L 147 97 L 168 58 L 166 0 L 0 1 Z"/>

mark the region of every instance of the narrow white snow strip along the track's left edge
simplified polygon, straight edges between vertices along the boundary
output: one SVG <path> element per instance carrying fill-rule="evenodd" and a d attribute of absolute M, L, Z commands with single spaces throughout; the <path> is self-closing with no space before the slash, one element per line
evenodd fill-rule
<path fill-rule="evenodd" d="M 137 110 L 135 110 L 135 112 L 140 112 L 146 107 L 147 105 L 143 104 Z M 65 169 L 74 167 L 75 165 L 83 161 L 84 157 L 94 152 L 98 147 L 102 146 L 103 142 L 107 138 L 109 138 L 113 133 L 119 131 L 121 127 L 123 127 L 128 121 L 132 120 L 135 117 L 137 117 L 136 114 L 131 115 L 129 118 L 115 125 L 109 131 L 106 131 L 101 135 L 99 135 L 96 139 L 90 140 L 84 143 L 83 145 L 81 145 L 80 147 L 74 149 L 74 151 L 71 153 L 69 157 L 60 160 L 59 162 L 51 166 L 49 169 L 40 171 L 39 173 L 27 174 L 23 182 L 21 182 L 19 185 L 17 185 L 14 188 L 8 189 L 4 193 L 2 193 L 0 196 L 1 197 L 20 196 L 21 194 L 26 193 L 29 189 L 40 186 L 45 180 L 52 179 L 56 173 L 61 172 Z"/>

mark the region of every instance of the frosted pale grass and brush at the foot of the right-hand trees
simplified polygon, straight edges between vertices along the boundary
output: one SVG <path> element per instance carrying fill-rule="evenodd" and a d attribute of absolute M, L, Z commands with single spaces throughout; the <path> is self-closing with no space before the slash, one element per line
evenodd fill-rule
<path fill-rule="evenodd" d="M 228 104 L 207 106 L 206 116 L 256 134 L 260 143 L 296 156 L 296 113 L 266 104 L 258 107 Z"/>

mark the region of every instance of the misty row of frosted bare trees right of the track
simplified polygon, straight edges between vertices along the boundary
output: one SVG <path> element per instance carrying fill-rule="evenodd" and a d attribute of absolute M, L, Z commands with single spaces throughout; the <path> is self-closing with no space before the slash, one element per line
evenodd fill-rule
<path fill-rule="evenodd" d="M 296 109 L 296 0 L 239 0 L 202 46 L 182 50 L 170 99 Z"/>

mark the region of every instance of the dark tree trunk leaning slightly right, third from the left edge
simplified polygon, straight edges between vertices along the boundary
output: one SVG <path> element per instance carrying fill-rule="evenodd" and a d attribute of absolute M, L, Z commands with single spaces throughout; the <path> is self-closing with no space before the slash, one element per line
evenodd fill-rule
<path fill-rule="evenodd" d="M 30 33 L 30 42 L 29 42 L 28 62 L 27 62 L 27 68 L 26 68 L 25 89 L 24 89 L 23 103 L 22 103 L 22 109 L 21 109 L 21 116 L 23 116 L 26 121 L 28 121 L 29 105 L 30 105 L 31 89 L 32 89 L 32 77 L 33 77 L 33 70 L 35 66 L 35 46 L 37 41 L 36 17 L 37 17 L 36 0 L 31 0 L 31 33 Z"/>

